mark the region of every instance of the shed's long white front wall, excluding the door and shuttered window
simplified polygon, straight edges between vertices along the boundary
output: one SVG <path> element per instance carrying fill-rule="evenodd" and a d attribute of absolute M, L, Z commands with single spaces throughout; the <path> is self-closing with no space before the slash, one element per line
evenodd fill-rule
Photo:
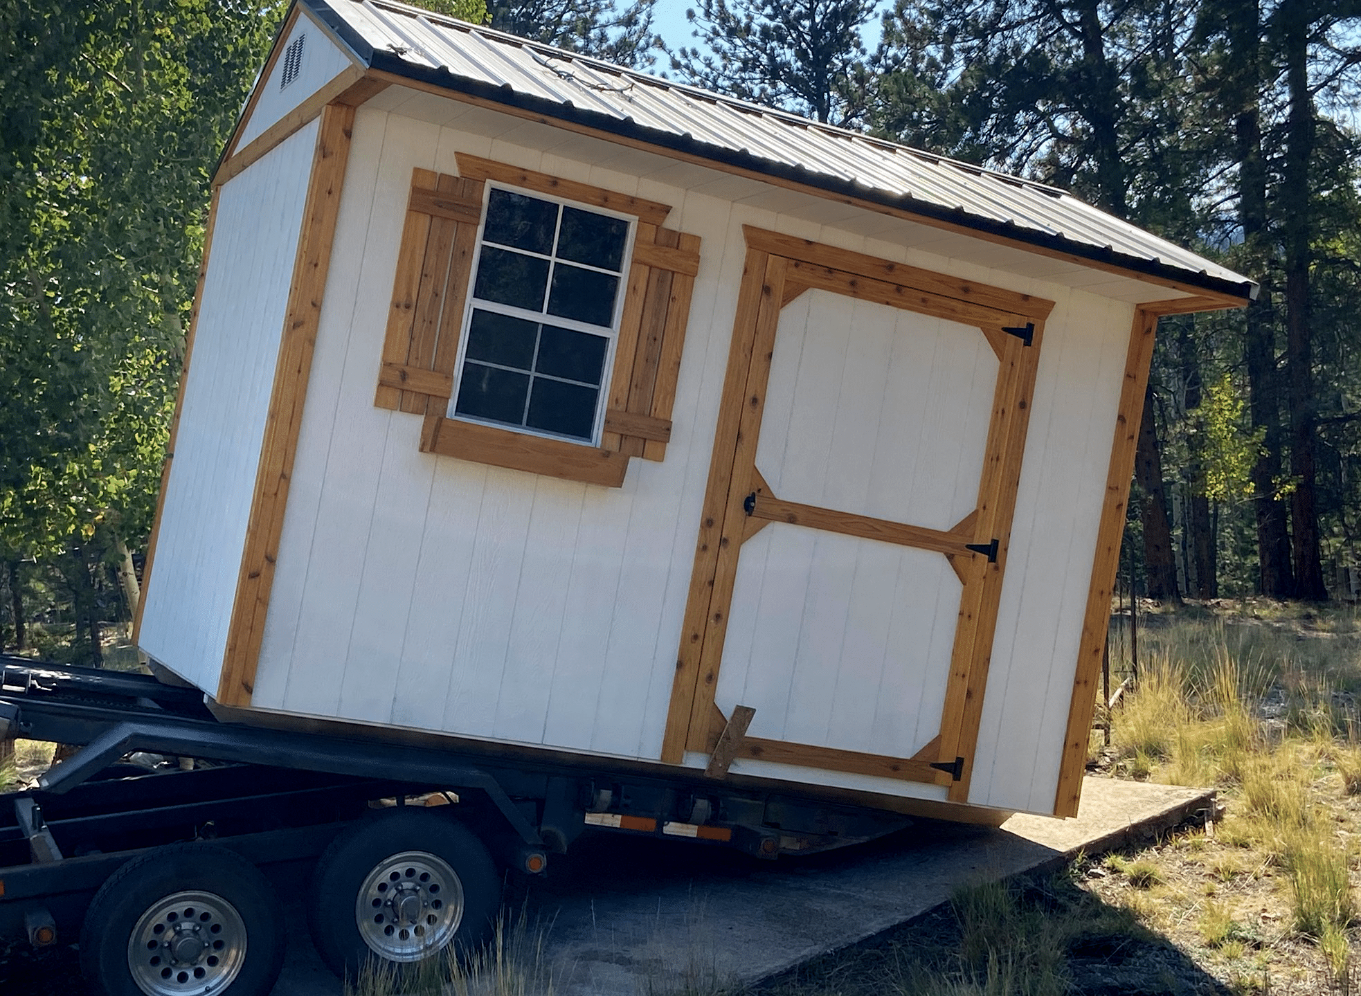
<path fill-rule="evenodd" d="M 761 197 L 732 203 L 713 184 L 559 158 L 519 144 L 542 139 L 536 125 L 442 107 L 444 127 L 373 107 L 355 121 L 253 705 L 657 758 L 747 223 L 1057 302 L 970 793 L 1051 811 L 1132 309 L 762 210 Z M 704 239 L 672 442 L 663 463 L 634 460 L 622 488 L 422 454 L 421 419 L 373 405 L 411 170 L 456 173 L 457 151 L 672 204 L 668 226 Z M 1037 633 L 1044 620 L 1057 626 Z M 940 793 L 757 761 L 735 770 Z"/>

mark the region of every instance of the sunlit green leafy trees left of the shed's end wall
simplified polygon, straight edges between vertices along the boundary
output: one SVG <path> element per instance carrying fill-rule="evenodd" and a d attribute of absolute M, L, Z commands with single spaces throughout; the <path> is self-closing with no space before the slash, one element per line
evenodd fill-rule
<path fill-rule="evenodd" d="M 0 559 L 84 591 L 144 542 L 208 178 L 280 12 L 0 11 Z"/>

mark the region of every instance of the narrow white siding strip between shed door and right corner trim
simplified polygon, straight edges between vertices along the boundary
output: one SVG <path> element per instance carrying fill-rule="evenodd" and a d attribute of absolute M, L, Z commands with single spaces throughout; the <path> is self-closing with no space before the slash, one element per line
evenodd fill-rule
<path fill-rule="evenodd" d="M 1045 324 L 970 801 L 1053 811 L 1132 318 L 1072 291 Z"/>

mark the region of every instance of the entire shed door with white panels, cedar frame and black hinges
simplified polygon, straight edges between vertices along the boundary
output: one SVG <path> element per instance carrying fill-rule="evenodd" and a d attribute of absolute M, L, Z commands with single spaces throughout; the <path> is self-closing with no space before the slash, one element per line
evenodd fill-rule
<path fill-rule="evenodd" d="M 671 718 L 964 799 L 1048 302 L 747 237 Z"/>

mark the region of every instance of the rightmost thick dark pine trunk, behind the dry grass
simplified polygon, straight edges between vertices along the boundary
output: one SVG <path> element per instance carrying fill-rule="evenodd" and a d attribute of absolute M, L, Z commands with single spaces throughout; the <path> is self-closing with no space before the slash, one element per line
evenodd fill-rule
<path fill-rule="evenodd" d="M 1290 401 L 1292 565 L 1296 595 L 1322 601 L 1319 509 L 1315 499 L 1313 335 L 1309 327 L 1309 156 L 1313 154 L 1313 97 L 1309 93 L 1309 22 L 1304 0 L 1282 7 L 1286 83 L 1290 91 L 1289 136 L 1282 214 L 1285 215 L 1286 380 Z"/>

